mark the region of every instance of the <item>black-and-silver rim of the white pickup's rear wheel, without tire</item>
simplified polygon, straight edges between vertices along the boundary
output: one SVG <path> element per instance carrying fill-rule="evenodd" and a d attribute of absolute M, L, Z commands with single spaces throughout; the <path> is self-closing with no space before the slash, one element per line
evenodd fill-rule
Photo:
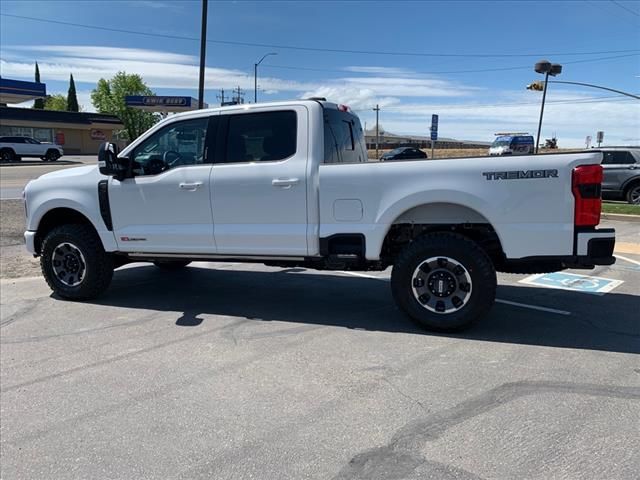
<path fill-rule="evenodd" d="M 411 276 L 413 296 L 423 308 L 446 315 L 462 309 L 471 298 L 468 270 L 450 257 L 422 261 Z"/>

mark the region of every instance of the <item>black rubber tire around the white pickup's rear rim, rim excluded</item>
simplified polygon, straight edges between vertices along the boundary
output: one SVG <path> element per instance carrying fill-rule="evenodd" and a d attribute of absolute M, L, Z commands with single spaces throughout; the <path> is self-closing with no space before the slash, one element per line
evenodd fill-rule
<path fill-rule="evenodd" d="M 455 260 L 471 280 L 470 294 L 458 310 L 436 313 L 423 306 L 414 294 L 415 272 L 433 257 Z M 474 241 L 446 232 L 431 233 L 411 242 L 396 258 L 391 273 L 391 291 L 398 306 L 421 327 L 441 332 L 466 329 L 486 315 L 495 301 L 496 284 L 496 271 L 486 252 Z"/>

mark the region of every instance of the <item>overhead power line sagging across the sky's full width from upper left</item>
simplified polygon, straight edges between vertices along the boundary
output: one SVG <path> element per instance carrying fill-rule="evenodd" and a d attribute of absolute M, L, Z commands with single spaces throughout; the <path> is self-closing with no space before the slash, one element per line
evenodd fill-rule
<path fill-rule="evenodd" d="M 70 27 L 103 30 L 107 32 L 142 35 L 146 37 L 169 38 L 172 40 L 200 41 L 200 38 L 196 38 L 196 37 L 167 35 L 162 33 L 137 32 L 134 30 L 125 30 L 121 28 L 103 27 L 99 25 L 86 25 L 81 23 L 64 22 L 60 20 L 28 17 L 25 15 L 13 15 L 9 13 L 0 13 L 0 16 L 20 18 L 23 20 L 32 20 L 36 22 L 53 23 L 57 25 L 66 25 Z M 609 54 L 609 53 L 630 53 L 630 52 L 640 51 L 639 49 L 632 49 L 632 50 L 605 50 L 605 51 L 596 51 L 596 52 L 561 52 L 561 53 L 552 53 L 552 52 L 547 52 L 547 53 L 424 53 L 424 52 L 392 52 L 392 51 L 376 51 L 376 50 L 347 50 L 347 49 L 337 49 L 337 48 L 301 47 L 301 46 L 294 46 L 294 45 L 275 45 L 275 44 L 268 44 L 268 43 L 237 42 L 237 41 L 231 41 L 231 40 L 212 40 L 212 39 L 207 39 L 207 43 L 217 43 L 221 45 L 236 45 L 236 46 L 243 46 L 243 47 L 262 47 L 262 48 L 283 49 L 283 50 L 302 50 L 302 51 L 308 51 L 308 52 L 351 53 L 351 54 L 360 54 L 360 55 L 389 55 L 389 56 L 411 56 L 411 57 L 459 57 L 459 58 L 542 57 L 546 55 L 558 57 L 558 56 L 571 56 L 571 55 L 601 55 L 601 54 Z"/>

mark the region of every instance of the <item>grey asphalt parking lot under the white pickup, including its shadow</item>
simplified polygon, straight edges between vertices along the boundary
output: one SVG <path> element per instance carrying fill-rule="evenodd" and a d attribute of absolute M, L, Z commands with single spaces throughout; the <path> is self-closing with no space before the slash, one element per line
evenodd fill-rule
<path fill-rule="evenodd" d="M 609 293 L 500 275 L 457 335 L 389 272 L 133 264 L 86 303 L 3 278 L 2 478 L 635 479 L 638 225 L 574 272 Z"/>

